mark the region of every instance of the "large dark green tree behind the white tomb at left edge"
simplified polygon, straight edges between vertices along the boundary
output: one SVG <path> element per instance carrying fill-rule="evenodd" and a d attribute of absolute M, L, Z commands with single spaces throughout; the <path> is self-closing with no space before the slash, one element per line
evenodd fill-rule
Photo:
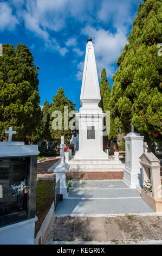
<path fill-rule="evenodd" d="M 38 92 L 37 69 L 27 46 L 3 44 L 0 57 L 0 139 L 7 140 L 4 131 L 12 126 L 17 141 L 32 144 L 40 136 L 42 120 Z"/>

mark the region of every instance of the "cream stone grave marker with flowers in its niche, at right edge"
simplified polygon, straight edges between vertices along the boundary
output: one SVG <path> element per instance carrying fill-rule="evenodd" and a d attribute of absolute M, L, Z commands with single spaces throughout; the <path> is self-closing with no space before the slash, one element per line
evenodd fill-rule
<path fill-rule="evenodd" d="M 147 153 L 147 148 L 145 143 L 145 153 L 139 157 L 143 180 L 141 197 L 155 212 L 162 212 L 160 161 L 152 152 Z"/>

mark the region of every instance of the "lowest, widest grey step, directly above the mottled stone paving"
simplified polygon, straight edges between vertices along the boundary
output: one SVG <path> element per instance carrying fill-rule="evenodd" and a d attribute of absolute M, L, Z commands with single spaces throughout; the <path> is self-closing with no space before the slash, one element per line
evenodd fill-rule
<path fill-rule="evenodd" d="M 140 214 L 153 210 L 141 198 L 67 198 L 59 202 L 56 215 Z"/>

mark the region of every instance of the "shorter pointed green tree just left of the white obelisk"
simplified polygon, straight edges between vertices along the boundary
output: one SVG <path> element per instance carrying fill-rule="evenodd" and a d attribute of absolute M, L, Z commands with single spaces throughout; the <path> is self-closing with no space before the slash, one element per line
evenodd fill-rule
<path fill-rule="evenodd" d="M 49 129 L 51 137 L 54 139 L 55 146 L 57 146 L 60 143 L 61 136 L 64 136 L 64 142 L 68 144 L 70 143 L 72 135 L 76 135 L 76 130 L 70 130 L 69 126 L 64 127 L 64 120 L 68 120 L 69 123 L 69 121 L 73 119 L 73 117 L 69 117 L 69 112 L 75 111 L 75 106 L 76 104 L 73 103 L 71 100 L 68 100 L 67 97 L 64 95 L 64 90 L 62 88 L 59 88 L 57 94 L 53 97 L 53 103 L 49 109 Z M 64 107 L 68 107 L 68 111 L 64 112 Z M 61 116 L 59 114 L 55 114 L 55 116 L 53 116 L 53 112 L 55 111 L 60 111 Z M 54 129 L 54 123 L 58 127 L 58 129 Z"/>

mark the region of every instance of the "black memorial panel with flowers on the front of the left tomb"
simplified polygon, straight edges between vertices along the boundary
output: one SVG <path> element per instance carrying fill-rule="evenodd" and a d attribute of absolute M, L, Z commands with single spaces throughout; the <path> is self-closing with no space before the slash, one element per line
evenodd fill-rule
<path fill-rule="evenodd" d="M 18 221 L 28 218 L 28 195 L 13 196 L 11 184 L 20 184 L 24 179 L 29 184 L 30 157 L 0 158 L 0 185 L 2 198 L 0 198 L 0 227 L 5 221 Z M 20 197 L 22 205 L 20 207 Z M 22 213 L 20 213 L 22 211 Z M 14 215 L 13 215 L 14 214 Z M 12 216 L 12 220 L 10 217 Z"/>

